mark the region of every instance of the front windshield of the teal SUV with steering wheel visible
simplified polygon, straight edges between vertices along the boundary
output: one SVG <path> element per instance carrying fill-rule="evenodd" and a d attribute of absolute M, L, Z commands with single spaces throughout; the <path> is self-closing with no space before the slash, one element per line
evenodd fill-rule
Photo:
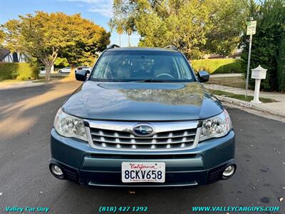
<path fill-rule="evenodd" d="M 91 74 L 93 81 L 194 81 L 179 52 L 106 51 Z"/>

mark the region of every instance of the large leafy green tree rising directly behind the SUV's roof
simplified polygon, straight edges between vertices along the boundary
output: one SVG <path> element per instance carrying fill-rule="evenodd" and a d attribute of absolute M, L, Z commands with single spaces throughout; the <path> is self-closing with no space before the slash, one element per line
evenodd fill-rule
<path fill-rule="evenodd" d="M 230 54 L 244 22 L 242 0 L 116 0 L 113 11 L 113 19 L 128 17 L 125 31 L 138 31 L 140 46 L 173 44 L 190 57 Z"/>

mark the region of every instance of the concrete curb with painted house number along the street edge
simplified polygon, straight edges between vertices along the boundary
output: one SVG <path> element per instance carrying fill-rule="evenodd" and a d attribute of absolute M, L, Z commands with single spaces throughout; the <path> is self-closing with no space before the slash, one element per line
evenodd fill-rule
<path fill-rule="evenodd" d="M 270 114 L 275 115 L 275 116 L 285 117 L 285 114 L 278 113 L 276 111 L 272 111 L 269 108 L 266 108 L 264 106 L 261 107 L 261 106 L 258 106 L 257 104 L 254 104 L 254 103 L 249 103 L 247 101 L 240 101 L 238 99 L 229 98 L 229 97 L 226 97 L 226 96 L 219 96 L 219 95 L 214 95 L 214 96 L 216 96 L 219 99 L 219 101 L 223 101 L 223 102 L 226 102 L 226 103 L 232 103 L 234 105 L 242 106 L 242 107 L 246 107 L 246 108 L 252 108 L 254 110 L 270 113 Z"/>

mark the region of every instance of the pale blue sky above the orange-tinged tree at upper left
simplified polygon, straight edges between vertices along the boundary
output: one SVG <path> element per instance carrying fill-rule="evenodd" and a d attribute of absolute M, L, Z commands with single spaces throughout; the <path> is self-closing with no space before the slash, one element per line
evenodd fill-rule
<path fill-rule="evenodd" d="M 17 19 L 19 15 L 33 14 L 34 11 L 56 12 L 66 14 L 78 14 L 85 19 L 90 19 L 107 31 L 108 21 L 112 16 L 113 0 L 0 0 L 0 24 L 9 19 Z M 133 34 L 130 37 L 131 46 L 137 46 L 139 36 Z M 112 32 L 110 44 L 119 44 L 119 35 Z M 128 35 L 121 36 L 121 46 L 128 46 Z"/>

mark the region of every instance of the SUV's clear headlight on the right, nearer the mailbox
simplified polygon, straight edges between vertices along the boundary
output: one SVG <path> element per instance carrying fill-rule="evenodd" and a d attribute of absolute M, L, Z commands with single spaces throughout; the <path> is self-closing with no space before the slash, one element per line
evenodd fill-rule
<path fill-rule="evenodd" d="M 224 109 L 218 116 L 203 121 L 200 141 L 225 136 L 229 133 L 231 128 L 232 121 L 229 118 L 229 113 Z"/>

